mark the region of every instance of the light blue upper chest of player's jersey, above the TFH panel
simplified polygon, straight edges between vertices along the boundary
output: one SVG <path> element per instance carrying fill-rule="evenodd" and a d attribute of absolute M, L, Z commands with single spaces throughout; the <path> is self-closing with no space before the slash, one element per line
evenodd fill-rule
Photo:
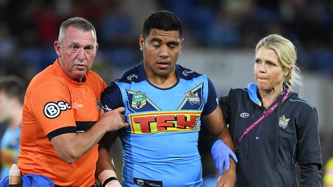
<path fill-rule="evenodd" d="M 202 110 L 205 104 L 204 84 L 178 84 L 170 89 L 159 89 L 150 84 L 132 85 L 123 91 L 129 112 Z"/>

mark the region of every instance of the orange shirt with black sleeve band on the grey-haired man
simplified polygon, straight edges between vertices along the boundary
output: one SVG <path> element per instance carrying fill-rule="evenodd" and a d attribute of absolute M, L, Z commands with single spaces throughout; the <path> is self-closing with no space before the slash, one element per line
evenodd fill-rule
<path fill-rule="evenodd" d="M 49 177 L 56 185 L 91 186 L 95 182 L 98 145 L 73 163 L 61 160 L 50 139 L 84 132 L 98 121 L 105 82 L 89 71 L 85 82 L 71 80 L 58 60 L 30 82 L 24 101 L 18 167 L 23 174 Z"/>

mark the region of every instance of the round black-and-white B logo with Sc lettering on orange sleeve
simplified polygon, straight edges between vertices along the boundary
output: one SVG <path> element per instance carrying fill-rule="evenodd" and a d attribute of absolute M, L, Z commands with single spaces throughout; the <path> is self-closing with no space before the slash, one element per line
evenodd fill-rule
<path fill-rule="evenodd" d="M 49 119 L 54 119 L 60 115 L 61 111 L 70 110 L 71 105 L 65 101 L 48 102 L 44 106 L 44 115 Z"/>

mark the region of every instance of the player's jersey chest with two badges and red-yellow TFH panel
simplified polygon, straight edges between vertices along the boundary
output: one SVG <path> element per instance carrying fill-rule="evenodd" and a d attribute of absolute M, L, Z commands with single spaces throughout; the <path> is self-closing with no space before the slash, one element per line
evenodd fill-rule
<path fill-rule="evenodd" d="M 203 83 L 190 83 L 171 89 L 150 85 L 124 90 L 124 105 L 134 134 L 197 131 L 205 104 Z"/>

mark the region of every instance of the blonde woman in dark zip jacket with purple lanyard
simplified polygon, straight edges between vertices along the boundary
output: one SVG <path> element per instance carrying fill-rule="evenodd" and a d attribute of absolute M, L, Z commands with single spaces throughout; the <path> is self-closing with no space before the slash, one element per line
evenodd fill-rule
<path fill-rule="evenodd" d="M 288 39 L 277 34 L 262 38 L 254 60 L 256 83 L 219 99 L 237 147 L 236 186 L 298 186 L 296 163 L 301 186 L 320 186 L 317 110 L 292 92 L 295 85 L 302 88 L 296 59 Z M 210 141 L 203 136 L 200 141 Z M 212 153 L 217 165 L 220 153 Z"/>

